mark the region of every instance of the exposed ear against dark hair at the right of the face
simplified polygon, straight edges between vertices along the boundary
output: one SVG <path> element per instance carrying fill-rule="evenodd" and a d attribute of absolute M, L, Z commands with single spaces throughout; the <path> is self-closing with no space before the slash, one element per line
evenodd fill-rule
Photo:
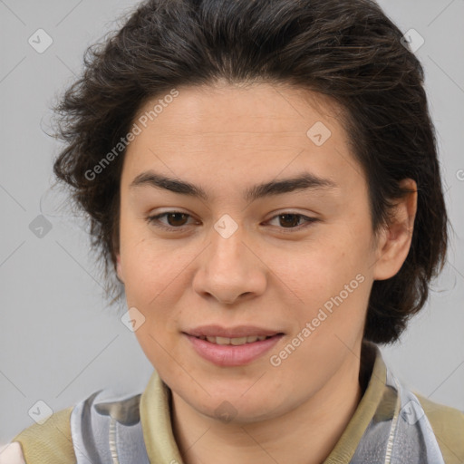
<path fill-rule="evenodd" d="M 414 218 L 417 210 L 417 184 L 412 179 L 402 179 L 402 189 L 410 189 L 397 200 L 391 211 L 390 223 L 383 227 L 376 243 L 374 280 L 384 280 L 396 275 L 410 251 Z"/>

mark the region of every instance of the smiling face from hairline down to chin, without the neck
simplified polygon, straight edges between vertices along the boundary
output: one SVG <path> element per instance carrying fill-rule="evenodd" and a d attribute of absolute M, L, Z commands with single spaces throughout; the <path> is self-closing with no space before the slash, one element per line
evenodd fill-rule
<path fill-rule="evenodd" d="M 382 257 L 327 97 L 264 83 L 178 92 L 156 117 L 162 97 L 140 110 L 122 169 L 118 274 L 135 333 L 195 411 L 277 417 L 357 374 L 372 282 L 401 259 Z"/>

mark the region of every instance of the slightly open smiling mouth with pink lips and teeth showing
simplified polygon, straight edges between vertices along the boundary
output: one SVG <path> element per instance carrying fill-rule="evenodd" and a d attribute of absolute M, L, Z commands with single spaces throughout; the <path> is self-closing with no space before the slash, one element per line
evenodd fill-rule
<path fill-rule="evenodd" d="M 268 352 L 285 333 L 241 326 L 204 326 L 183 333 L 201 358 L 221 367 L 242 366 Z"/>

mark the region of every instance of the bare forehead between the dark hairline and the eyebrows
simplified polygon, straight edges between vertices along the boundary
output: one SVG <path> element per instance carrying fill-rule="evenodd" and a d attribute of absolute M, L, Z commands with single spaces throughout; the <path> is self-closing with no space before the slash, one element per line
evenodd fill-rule
<path fill-rule="evenodd" d="M 329 97 L 269 83 L 177 92 L 175 98 L 159 95 L 145 102 L 134 118 L 140 134 L 126 152 L 127 182 L 143 169 L 156 169 L 181 179 L 214 172 L 225 187 L 308 168 L 324 178 L 343 170 L 345 183 L 351 169 L 359 181 L 362 169 L 350 153 L 342 110 Z"/>

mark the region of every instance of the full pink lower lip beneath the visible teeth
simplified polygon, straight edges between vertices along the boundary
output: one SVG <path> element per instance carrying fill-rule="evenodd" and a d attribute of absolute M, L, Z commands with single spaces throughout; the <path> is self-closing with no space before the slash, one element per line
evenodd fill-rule
<path fill-rule="evenodd" d="M 218 366 L 243 366 L 268 352 L 284 335 L 279 333 L 266 340 L 241 345 L 209 343 L 185 333 L 194 350 L 204 359 Z"/>

